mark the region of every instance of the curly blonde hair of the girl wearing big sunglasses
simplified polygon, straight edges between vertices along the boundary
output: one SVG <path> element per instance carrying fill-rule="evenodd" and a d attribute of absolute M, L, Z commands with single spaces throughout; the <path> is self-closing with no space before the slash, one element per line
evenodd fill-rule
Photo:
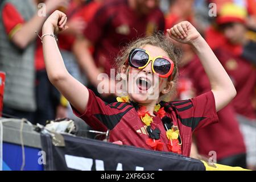
<path fill-rule="evenodd" d="M 175 47 L 172 44 L 170 38 L 167 38 L 163 34 L 154 34 L 152 36 L 146 36 L 144 38 L 140 38 L 128 44 L 122 51 L 119 53 L 119 56 L 115 59 L 114 68 L 117 73 L 121 72 L 121 68 L 123 65 L 126 65 L 126 61 L 128 59 L 129 53 L 134 48 L 142 48 L 146 44 L 151 46 L 156 46 L 162 48 L 167 54 L 168 57 L 174 62 L 174 71 L 172 72 L 172 79 L 171 76 L 168 78 L 168 81 L 172 82 L 172 89 L 169 93 L 160 95 L 159 101 L 170 101 L 170 96 L 175 94 L 176 92 L 176 84 L 177 84 L 177 77 L 178 77 L 178 67 L 177 63 L 181 56 L 181 51 L 179 48 Z"/>

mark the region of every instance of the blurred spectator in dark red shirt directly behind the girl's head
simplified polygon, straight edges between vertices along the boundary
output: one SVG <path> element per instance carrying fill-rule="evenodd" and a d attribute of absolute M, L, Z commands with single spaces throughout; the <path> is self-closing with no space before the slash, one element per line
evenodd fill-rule
<path fill-rule="evenodd" d="M 99 73 L 110 75 L 115 56 L 131 40 L 164 30 L 164 16 L 157 0 L 107 0 L 90 20 L 85 39 L 77 40 L 74 52 L 82 71 L 97 94 Z M 93 55 L 88 47 L 93 45 Z M 100 94 L 97 94 L 100 96 Z M 106 101 L 113 101 L 105 98 Z"/>

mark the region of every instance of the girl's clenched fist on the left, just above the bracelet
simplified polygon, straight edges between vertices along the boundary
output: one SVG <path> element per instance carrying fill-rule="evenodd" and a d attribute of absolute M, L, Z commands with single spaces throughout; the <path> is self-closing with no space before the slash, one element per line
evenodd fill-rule
<path fill-rule="evenodd" d="M 60 31 L 64 31 L 68 28 L 67 16 L 59 10 L 54 11 L 44 22 L 43 32 L 58 34 Z"/>

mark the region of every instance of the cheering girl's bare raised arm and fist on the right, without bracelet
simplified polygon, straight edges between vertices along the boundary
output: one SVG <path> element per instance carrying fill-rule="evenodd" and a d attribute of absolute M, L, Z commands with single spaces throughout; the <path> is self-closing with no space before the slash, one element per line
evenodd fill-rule
<path fill-rule="evenodd" d="M 236 89 L 228 73 L 214 55 L 212 49 L 205 42 L 191 23 L 184 21 L 167 29 L 169 36 L 180 43 L 190 44 L 201 60 L 208 75 L 210 86 L 214 94 L 216 110 L 220 110 L 236 96 Z M 199 78 L 200 79 L 200 78 Z"/>

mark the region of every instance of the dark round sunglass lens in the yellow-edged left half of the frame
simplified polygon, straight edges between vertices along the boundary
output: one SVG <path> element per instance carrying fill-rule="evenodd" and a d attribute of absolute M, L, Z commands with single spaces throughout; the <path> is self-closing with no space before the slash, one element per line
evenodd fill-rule
<path fill-rule="evenodd" d="M 148 55 L 143 51 L 135 51 L 133 55 L 131 55 L 131 64 L 133 64 L 134 67 L 143 67 L 147 64 L 147 61 Z"/>

